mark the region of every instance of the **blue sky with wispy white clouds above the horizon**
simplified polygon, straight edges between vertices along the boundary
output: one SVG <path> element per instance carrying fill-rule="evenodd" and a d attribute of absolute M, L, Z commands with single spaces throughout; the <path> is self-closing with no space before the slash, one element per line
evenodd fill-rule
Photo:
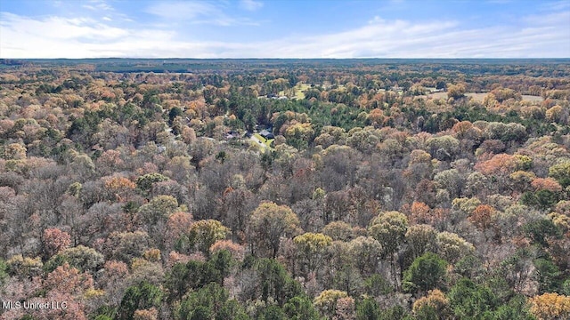
<path fill-rule="evenodd" d="M 570 0 L 0 0 L 0 58 L 570 58 Z"/>

